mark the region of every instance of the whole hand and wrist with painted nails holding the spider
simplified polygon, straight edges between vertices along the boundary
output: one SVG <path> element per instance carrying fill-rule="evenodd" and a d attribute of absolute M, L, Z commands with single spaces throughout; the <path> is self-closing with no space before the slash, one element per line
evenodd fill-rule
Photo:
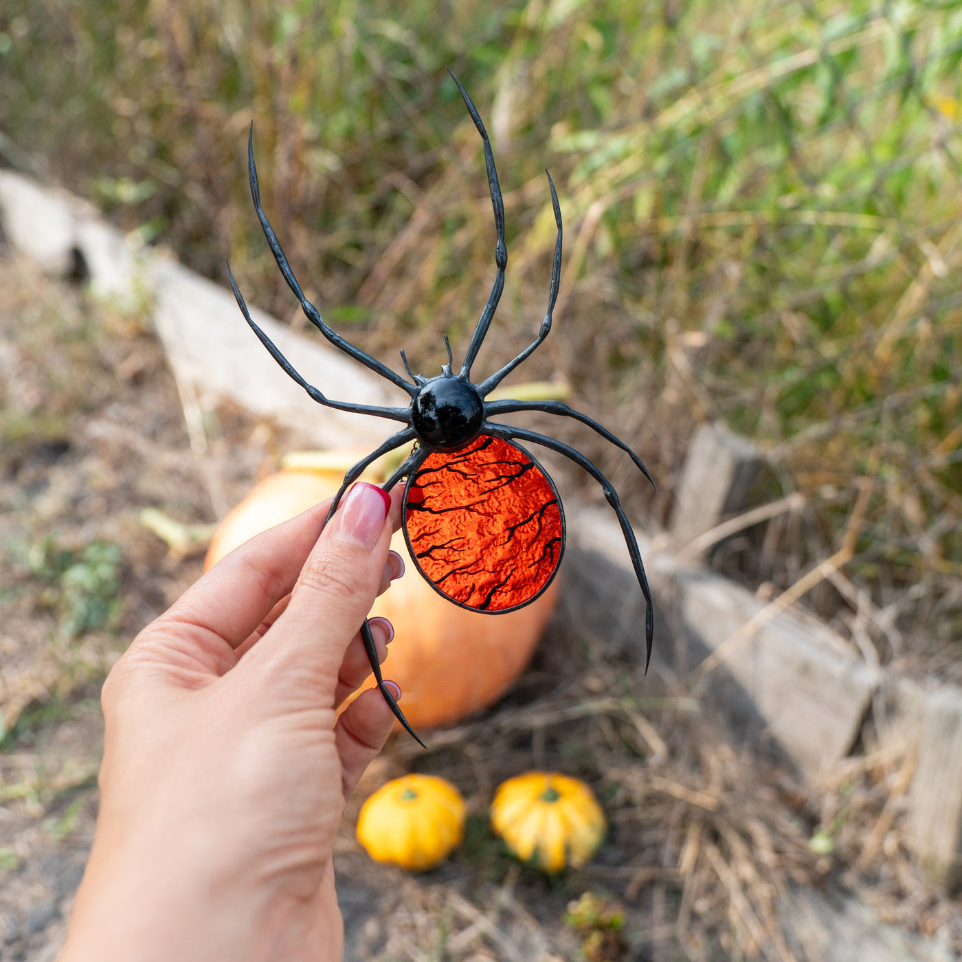
<path fill-rule="evenodd" d="M 355 485 L 325 528 L 327 506 L 228 555 L 111 671 L 61 962 L 342 957 L 335 835 L 393 716 L 376 691 L 337 710 L 370 671 L 359 629 L 403 563 L 399 494 Z M 370 623 L 383 660 L 391 625 Z"/>

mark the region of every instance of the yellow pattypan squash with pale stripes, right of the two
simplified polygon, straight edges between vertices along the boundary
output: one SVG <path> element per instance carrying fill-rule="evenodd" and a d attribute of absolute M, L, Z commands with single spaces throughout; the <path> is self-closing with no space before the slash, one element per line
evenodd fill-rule
<path fill-rule="evenodd" d="M 592 790 L 556 772 L 526 772 L 502 782 L 491 823 L 511 851 L 545 872 L 577 868 L 604 840 L 605 820 Z"/>

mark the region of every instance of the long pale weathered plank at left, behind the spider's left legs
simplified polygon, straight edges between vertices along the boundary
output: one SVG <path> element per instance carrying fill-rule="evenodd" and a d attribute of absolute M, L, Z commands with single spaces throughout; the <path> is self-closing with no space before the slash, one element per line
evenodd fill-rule
<path fill-rule="evenodd" d="M 259 417 L 295 428 L 321 447 L 376 447 L 400 427 L 396 421 L 346 414 L 312 401 L 244 323 L 231 291 L 172 259 L 139 249 L 66 191 L 0 171 L 0 218 L 13 249 L 47 272 L 70 272 L 79 254 L 95 294 L 124 305 L 146 301 L 178 384 L 201 407 L 227 398 Z M 409 400 L 329 347 L 319 334 L 296 334 L 256 308 L 251 313 L 291 364 L 328 397 L 387 406 Z"/>

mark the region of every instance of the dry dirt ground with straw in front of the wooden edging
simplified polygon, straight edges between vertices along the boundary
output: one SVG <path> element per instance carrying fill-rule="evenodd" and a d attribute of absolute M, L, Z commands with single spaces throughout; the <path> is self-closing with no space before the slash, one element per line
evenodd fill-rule
<path fill-rule="evenodd" d="M 53 959 L 63 940 L 96 816 L 100 683 L 200 573 L 200 556 L 168 550 L 140 512 L 209 522 L 211 470 L 234 503 L 298 439 L 219 409 L 202 469 L 146 323 L 9 251 L 0 418 L 0 958 L 13 962 Z M 644 713 L 621 708 L 640 690 L 638 666 L 570 637 L 563 614 L 548 635 L 510 696 L 429 735 L 426 753 L 393 739 L 350 799 L 336 850 L 347 958 L 586 957 L 565 913 L 593 893 L 626 924 L 592 962 L 790 962 L 810 956 L 779 905 L 802 885 L 855 890 L 884 920 L 962 949 L 962 910 L 926 886 L 898 822 L 851 868 L 887 818 L 903 759 L 867 752 L 815 793 L 671 691 L 652 692 Z M 597 710 L 581 712 L 590 701 Z M 586 778 L 605 805 L 608 841 L 581 872 L 545 878 L 487 829 L 494 786 L 533 767 Z M 443 773 L 468 798 L 466 844 L 424 875 L 374 866 L 353 836 L 361 800 L 406 771 Z M 813 845 L 824 826 L 829 844 Z"/>

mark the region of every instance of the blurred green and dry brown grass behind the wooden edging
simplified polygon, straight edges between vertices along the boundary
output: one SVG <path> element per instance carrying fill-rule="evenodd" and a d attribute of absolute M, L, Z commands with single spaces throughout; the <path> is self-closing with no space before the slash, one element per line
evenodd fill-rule
<path fill-rule="evenodd" d="M 563 285 L 516 379 L 566 377 L 646 459 L 661 494 L 632 484 L 636 518 L 667 518 L 697 422 L 761 444 L 768 496 L 805 507 L 716 553 L 755 586 L 836 550 L 868 479 L 856 557 L 809 601 L 846 630 L 861 599 L 882 660 L 948 671 L 962 3 L 7 0 L 0 153 L 220 282 L 230 253 L 249 299 L 300 324 L 250 203 L 253 119 L 266 210 L 308 296 L 430 373 L 494 275 L 480 142 L 445 64 L 487 121 L 507 209 L 478 375 L 544 314 L 548 166 Z M 625 487 L 616 452 L 552 428 Z"/>

